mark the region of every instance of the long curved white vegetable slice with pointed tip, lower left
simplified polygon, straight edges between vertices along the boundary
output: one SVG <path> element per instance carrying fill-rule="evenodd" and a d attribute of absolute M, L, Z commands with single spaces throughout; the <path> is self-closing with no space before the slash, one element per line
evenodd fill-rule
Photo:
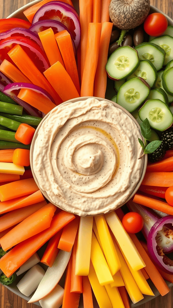
<path fill-rule="evenodd" d="M 34 303 L 47 296 L 57 285 L 61 279 L 68 261 L 70 259 L 71 251 L 66 252 L 60 250 L 52 267 L 48 267 L 46 273 L 40 282 L 34 295 L 30 298 L 28 303 Z"/>

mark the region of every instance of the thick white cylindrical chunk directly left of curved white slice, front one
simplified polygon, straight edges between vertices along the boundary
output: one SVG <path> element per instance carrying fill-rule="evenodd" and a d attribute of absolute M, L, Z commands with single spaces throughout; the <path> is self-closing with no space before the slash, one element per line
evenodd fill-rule
<path fill-rule="evenodd" d="M 44 277 L 44 274 L 45 271 L 40 265 L 36 264 L 31 267 L 30 270 L 18 282 L 17 287 L 19 291 L 26 296 L 30 296 L 31 293 L 38 287 L 40 281 Z"/>

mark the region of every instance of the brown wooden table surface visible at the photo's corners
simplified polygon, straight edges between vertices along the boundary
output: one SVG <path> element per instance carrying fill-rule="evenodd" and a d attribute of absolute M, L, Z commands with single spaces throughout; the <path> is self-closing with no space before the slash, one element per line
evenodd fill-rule
<path fill-rule="evenodd" d="M 0 0 L 0 18 L 6 18 L 12 12 L 21 6 L 31 2 L 32 0 Z M 173 18 L 173 2 L 172 0 L 150 0 L 151 5 L 159 8 L 168 16 Z M 36 308 L 34 304 L 28 304 L 24 299 L 15 295 L 4 286 L 0 285 L 0 308 Z M 173 308 L 173 292 L 172 290 L 164 297 L 157 298 L 139 305 L 139 308 Z M 119 307 L 117 307 L 119 308 Z"/>

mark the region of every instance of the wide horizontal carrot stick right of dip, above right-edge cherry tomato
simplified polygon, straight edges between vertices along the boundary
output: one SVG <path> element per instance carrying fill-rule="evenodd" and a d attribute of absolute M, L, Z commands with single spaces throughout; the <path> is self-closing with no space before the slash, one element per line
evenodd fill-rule
<path fill-rule="evenodd" d="M 142 184 L 170 187 L 173 185 L 173 172 L 146 172 Z"/>

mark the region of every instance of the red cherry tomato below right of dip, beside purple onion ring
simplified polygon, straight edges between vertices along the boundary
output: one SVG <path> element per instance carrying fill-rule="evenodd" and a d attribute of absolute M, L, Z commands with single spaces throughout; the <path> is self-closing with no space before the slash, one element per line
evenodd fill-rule
<path fill-rule="evenodd" d="M 122 224 L 128 233 L 138 233 L 143 228 L 143 218 L 136 212 L 129 212 L 124 215 Z"/>

